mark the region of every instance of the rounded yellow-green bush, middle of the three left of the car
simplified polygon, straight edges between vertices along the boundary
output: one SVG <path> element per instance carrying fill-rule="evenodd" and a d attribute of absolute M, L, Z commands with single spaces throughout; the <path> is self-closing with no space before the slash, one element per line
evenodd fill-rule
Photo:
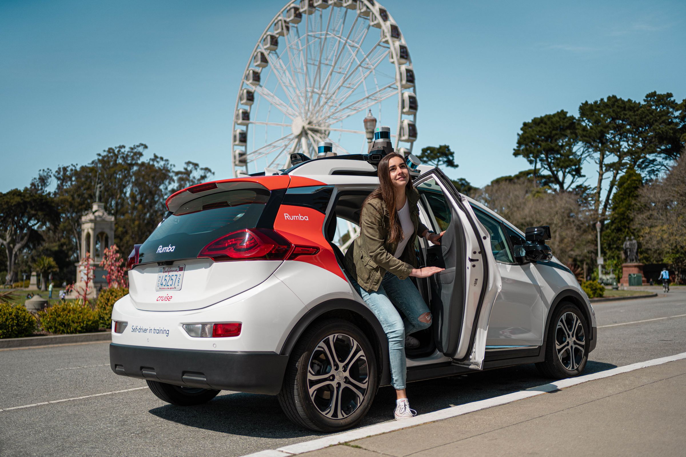
<path fill-rule="evenodd" d="M 97 332 L 97 312 L 81 300 L 67 301 L 39 311 L 43 330 L 56 334 Z"/>

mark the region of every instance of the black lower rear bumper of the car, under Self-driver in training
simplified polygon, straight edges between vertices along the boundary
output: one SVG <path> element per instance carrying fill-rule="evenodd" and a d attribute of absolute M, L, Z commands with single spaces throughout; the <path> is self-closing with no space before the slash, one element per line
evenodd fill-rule
<path fill-rule="evenodd" d="M 287 362 L 288 356 L 276 352 L 110 344 L 110 368 L 118 375 L 185 387 L 276 395 Z"/>

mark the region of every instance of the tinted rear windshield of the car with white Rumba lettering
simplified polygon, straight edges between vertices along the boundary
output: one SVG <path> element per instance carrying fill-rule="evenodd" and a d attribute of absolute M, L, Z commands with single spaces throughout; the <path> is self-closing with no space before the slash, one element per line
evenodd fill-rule
<path fill-rule="evenodd" d="M 167 216 L 145 240 L 141 263 L 196 258 L 212 241 L 235 230 L 257 225 L 269 199 L 269 190 L 237 189 L 205 195 Z"/>

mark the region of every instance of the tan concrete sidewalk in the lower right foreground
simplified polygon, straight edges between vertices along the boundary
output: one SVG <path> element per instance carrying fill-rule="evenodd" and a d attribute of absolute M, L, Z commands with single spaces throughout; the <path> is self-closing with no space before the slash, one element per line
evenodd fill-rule
<path fill-rule="evenodd" d="M 683 456 L 686 359 L 300 454 Z"/>

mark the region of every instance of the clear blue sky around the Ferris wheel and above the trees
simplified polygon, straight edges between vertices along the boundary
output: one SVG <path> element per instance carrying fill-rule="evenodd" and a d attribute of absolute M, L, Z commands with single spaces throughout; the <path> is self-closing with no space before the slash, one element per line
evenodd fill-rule
<path fill-rule="evenodd" d="M 0 191 L 135 143 L 229 177 L 241 74 L 285 3 L 0 0 Z M 450 145 L 477 186 L 529 167 L 512 148 L 534 116 L 686 97 L 684 1 L 381 3 L 412 55 L 415 147 Z"/>

